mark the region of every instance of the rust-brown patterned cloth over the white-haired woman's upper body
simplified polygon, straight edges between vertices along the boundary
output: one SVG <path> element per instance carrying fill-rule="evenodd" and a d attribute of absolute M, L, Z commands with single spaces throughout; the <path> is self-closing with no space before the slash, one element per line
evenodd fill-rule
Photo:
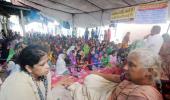
<path fill-rule="evenodd" d="M 163 98 L 153 86 L 136 85 L 124 80 L 113 90 L 108 100 L 163 100 Z"/>

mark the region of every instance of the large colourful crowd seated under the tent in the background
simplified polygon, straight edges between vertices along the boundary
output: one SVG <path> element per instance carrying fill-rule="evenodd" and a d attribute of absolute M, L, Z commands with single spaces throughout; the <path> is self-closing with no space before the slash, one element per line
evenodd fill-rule
<path fill-rule="evenodd" d="M 49 51 L 49 64 L 58 68 L 59 74 L 67 73 L 68 67 L 79 69 L 94 70 L 104 67 L 123 66 L 129 49 L 126 43 L 124 45 L 110 42 L 108 32 L 105 30 L 105 39 L 98 40 L 98 35 L 94 30 L 86 29 L 84 37 L 75 36 L 53 36 L 50 34 L 32 33 L 21 37 L 12 31 L 6 35 L 2 31 L 1 39 L 1 66 L 10 66 L 7 68 L 8 73 L 17 71 L 19 68 L 12 67 L 15 65 L 17 56 L 20 51 L 30 44 L 45 45 Z M 61 57 L 61 55 L 63 55 Z M 63 63 L 61 63 L 63 61 Z M 117 63 L 118 62 L 118 63 Z M 6 67 L 1 67 L 1 69 Z M 9 71 L 10 70 L 10 71 Z"/>

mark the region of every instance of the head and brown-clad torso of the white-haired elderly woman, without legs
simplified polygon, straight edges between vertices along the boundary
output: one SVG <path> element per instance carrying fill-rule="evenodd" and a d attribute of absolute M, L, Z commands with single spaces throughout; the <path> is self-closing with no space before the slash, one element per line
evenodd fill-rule
<path fill-rule="evenodd" d="M 156 83 L 160 79 L 159 56 L 147 49 L 136 49 L 128 55 L 127 80 L 120 82 L 109 100 L 162 100 Z"/>

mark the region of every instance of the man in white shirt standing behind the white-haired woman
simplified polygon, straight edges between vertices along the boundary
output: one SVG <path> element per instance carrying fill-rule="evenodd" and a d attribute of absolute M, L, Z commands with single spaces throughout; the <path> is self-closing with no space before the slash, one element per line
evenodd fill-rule
<path fill-rule="evenodd" d="M 160 34 L 160 31 L 161 27 L 155 25 L 152 27 L 151 33 L 147 37 L 145 37 L 146 47 L 151 49 L 156 54 L 159 54 L 159 51 L 163 44 L 163 38 Z"/>

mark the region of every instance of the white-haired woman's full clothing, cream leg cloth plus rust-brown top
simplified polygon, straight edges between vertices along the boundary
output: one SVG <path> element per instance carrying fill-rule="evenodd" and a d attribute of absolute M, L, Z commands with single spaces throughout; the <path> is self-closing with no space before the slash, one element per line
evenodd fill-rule
<path fill-rule="evenodd" d="M 68 90 L 73 100 L 163 100 L 155 87 L 127 80 L 115 83 L 95 74 L 88 75 L 84 84 L 73 83 Z"/>

